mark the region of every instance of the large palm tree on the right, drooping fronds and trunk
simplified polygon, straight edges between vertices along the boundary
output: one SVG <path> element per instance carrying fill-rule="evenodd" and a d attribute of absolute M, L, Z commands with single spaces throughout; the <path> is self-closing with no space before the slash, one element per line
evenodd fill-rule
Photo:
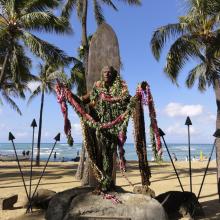
<path fill-rule="evenodd" d="M 220 129 L 220 3 L 218 0 L 189 0 L 187 9 L 186 15 L 180 17 L 178 23 L 162 26 L 153 33 L 152 52 L 159 60 L 166 41 L 174 41 L 164 68 L 173 83 L 177 83 L 179 73 L 187 61 L 199 61 L 189 71 L 186 86 L 191 88 L 196 81 L 200 91 L 213 86 L 217 102 L 216 128 Z M 220 138 L 217 138 L 216 149 L 220 195 Z"/>

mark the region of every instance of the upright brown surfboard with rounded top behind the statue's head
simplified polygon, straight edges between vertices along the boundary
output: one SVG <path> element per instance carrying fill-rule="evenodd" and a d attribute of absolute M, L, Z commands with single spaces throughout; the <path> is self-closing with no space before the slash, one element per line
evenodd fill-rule
<path fill-rule="evenodd" d="M 120 72 L 120 54 L 117 36 L 106 23 L 99 26 L 89 46 L 87 90 L 90 91 L 95 81 L 100 80 L 104 66 L 113 66 Z"/>

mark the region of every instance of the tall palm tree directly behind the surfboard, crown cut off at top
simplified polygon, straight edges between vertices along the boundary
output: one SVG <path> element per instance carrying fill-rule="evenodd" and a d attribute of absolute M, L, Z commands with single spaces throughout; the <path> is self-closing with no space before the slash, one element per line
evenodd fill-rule
<path fill-rule="evenodd" d="M 94 15 L 97 22 L 97 25 L 100 25 L 105 21 L 104 15 L 102 13 L 101 4 L 105 4 L 118 10 L 112 0 L 93 0 Z M 124 0 L 125 3 L 129 5 L 140 5 L 140 0 Z M 87 66 L 88 66 L 88 53 L 89 53 L 89 43 L 87 36 L 87 12 L 88 12 L 88 0 L 67 0 L 66 4 L 62 11 L 62 16 L 69 18 L 71 11 L 76 8 L 78 18 L 82 25 L 82 48 L 84 50 L 83 65 L 85 68 L 85 73 L 87 75 Z M 86 93 L 86 91 L 85 91 Z"/>

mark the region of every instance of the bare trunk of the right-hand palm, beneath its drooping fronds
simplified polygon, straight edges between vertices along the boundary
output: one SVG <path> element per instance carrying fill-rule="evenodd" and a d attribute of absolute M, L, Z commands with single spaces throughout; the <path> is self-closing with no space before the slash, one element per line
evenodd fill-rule
<path fill-rule="evenodd" d="M 220 129 L 220 79 L 215 80 L 215 96 L 217 104 L 216 130 Z M 220 138 L 216 139 L 217 187 L 220 200 Z"/>

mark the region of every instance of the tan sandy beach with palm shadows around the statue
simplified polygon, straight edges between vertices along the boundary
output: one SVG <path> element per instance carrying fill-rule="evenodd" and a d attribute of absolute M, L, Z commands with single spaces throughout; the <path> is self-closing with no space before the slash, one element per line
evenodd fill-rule
<path fill-rule="evenodd" d="M 29 184 L 29 165 L 30 162 L 22 162 L 22 169 L 24 171 L 26 183 Z M 193 161 L 192 162 L 192 183 L 193 192 L 197 195 L 200 184 L 202 182 L 204 170 L 207 161 Z M 38 177 L 41 174 L 44 163 L 41 167 L 34 167 L 33 170 L 33 187 L 36 186 Z M 181 191 L 175 172 L 171 163 L 150 162 L 151 166 L 151 188 L 156 195 L 170 190 Z M 190 190 L 188 162 L 175 162 L 176 169 L 180 175 L 184 190 Z M 28 168 L 28 169 L 27 169 Z M 56 192 L 80 186 L 79 181 L 74 177 L 76 172 L 76 162 L 50 162 L 46 169 L 45 176 L 42 178 L 39 188 L 50 189 Z M 134 185 L 140 185 L 140 174 L 138 164 L 136 161 L 129 161 L 127 164 L 127 175 L 129 180 Z M 216 184 L 216 162 L 211 161 L 209 170 L 205 179 L 205 183 L 200 196 L 200 203 L 206 213 L 206 218 L 200 219 L 220 219 L 220 203 L 217 195 Z M 125 190 L 132 191 L 132 187 L 122 175 L 117 173 L 117 185 L 123 187 Z M 18 194 L 18 202 L 13 210 L 0 211 L 0 219 L 44 219 L 43 213 L 35 211 L 31 215 L 25 215 L 25 209 L 22 208 L 26 194 L 22 185 L 22 180 L 19 175 L 16 162 L 0 162 L 0 195 L 5 197 L 12 194 Z"/>

